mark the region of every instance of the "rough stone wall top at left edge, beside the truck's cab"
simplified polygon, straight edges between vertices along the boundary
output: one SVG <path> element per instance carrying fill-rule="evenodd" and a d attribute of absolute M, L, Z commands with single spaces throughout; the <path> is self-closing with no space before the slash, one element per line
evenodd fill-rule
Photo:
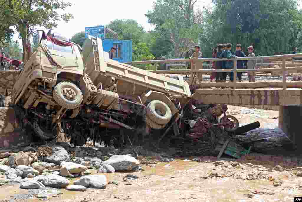
<path fill-rule="evenodd" d="M 5 94 L 7 89 L 8 95 L 11 95 L 19 74 L 19 70 L 0 71 L 0 94 Z"/>

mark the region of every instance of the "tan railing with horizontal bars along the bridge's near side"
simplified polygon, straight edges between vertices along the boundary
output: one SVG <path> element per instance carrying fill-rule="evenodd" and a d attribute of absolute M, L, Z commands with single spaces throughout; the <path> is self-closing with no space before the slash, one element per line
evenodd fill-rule
<path fill-rule="evenodd" d="M 246 71 L 259 71 L 259 69 L 237 69 L 237 61 L 248 61 L 248 60 L 263 60 L 268 59 L 281 59 L 282 60 L 282 68 L 262 68 L 262 72 L 272 72 L 272 71 L 283 71 L 282 77 L 282 86 L 283 89 L 286 89 L 286 71 L 288 70 L 302 70 L 301 67 L 286 67 L 286 61 L 292 61 L 293 58 L 302 57 L 302 54 L 289 54 L 289 55 L 271 55 L 271 56 L 261 56 L 261 57 L 234 57 L 231 59 L 227 58 L 201 58 L 201 59 L 194 59 L 193 61 L 230 61 L 232 60 L 234 65 L 233 69 L 203 69 L 201 66 L 201 62 L 196 63 L 197 66 L 188 70 L 155 70 L 154 73 L 158 74 L 191 74 L 191 78 L 193 78 L 194 73 L 201 72 L 201 73 L 212 73 L 212 72 L 233 72 L 234 80 L 233 80 L 233 88 L 236 89 L 237 83 L 237 72 L 246 72 Z M 126 64 L 156 64 L 156 63 L 169 63 L 169 62 L 189 62 L 189 59 L 168 59 L 168 60 L 148 60 L 148 61 L 133 61 L 133 62 L 125 62 Z M 198 66 L 199 65 L 199 66 Z"/>

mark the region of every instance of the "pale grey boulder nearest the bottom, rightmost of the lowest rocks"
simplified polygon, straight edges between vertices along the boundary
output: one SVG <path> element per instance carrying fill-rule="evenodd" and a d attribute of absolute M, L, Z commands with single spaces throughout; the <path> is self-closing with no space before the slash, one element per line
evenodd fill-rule
<path fill-rule="evenodd" d="M 105 175 L 82 176 L 79 180 L 74 181 L 73 184 L 96 189 L 105 189 L 107 178 Z"/>

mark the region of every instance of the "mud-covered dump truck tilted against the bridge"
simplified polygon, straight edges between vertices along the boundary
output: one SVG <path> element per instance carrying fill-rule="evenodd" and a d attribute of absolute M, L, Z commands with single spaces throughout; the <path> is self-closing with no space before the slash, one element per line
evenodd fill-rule
<path fill-rule="evenodd" d="M 30 126 L 44 140 L 54 139 L 61 124 L 78 146 L 88 138 L 124 143 L 129 134 L 165 127 L 173 115 L 179 117 L 178 100 L 191 96 L 182 77 L 109 59 L 100 38 L 88 36 L 82 48 L 52 31 L 28 38 L 34 39 L 32 51 L 14 85 L 13 102 L 21 127 Z"/>

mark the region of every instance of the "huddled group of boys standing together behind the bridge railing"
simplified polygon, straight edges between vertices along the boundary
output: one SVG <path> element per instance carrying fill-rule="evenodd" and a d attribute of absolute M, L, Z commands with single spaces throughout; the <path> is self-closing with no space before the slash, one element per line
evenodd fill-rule
<path fill-rule="evenodd" d="M 227 58 L 231 59 L 234 57 L 246 57 L 244 52 L 241 50 L 241 45 L 236 45 L 236 51 L 234 53 L 231 52 L 232 44 L 219 44 L 216 45 L 216 47 L 213 49 L 213 58 Z M 249 46 L 248 48 L 248 57 L 255 57 L 255 54 L 253 53 L 253 47 Z M 227 61 L 213 61 L 213 68 L 214 69 L 233 69 L 233 61 L 227 60 Z M 255 69 L 256 68 L 256 61 L 255 60 L 249 60 L 249 61 L 237 61 L 237 69 L 243 69 L 244 64 L 249 69 Z M 229 75 L 230 81 L 233 81 L 233 72 L 227 73 L 227 72 L 214 72 L 210 76 L 210 81 L 212 81 L 214 78 L 216 78 L 216 82 L 225 82 L 226 76 Z M 242 79 L 242 72 L 237 72 L 237 77 L 239 79 L 239 82 Z M 255 72 L 248 72 L 249 82 L 255 82 Z"/>

